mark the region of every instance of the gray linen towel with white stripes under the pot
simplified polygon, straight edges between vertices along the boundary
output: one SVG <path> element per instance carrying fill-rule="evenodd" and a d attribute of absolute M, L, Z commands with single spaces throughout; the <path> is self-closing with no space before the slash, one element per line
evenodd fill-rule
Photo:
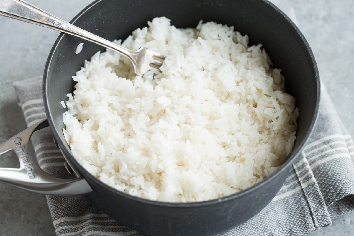
<path fill-rule="evenodd" d="M 14 87 L 28 126 L 44 119 L 42 79 L 16 82 Z M 317 125 L 279 193 L 251 220 L 220 236 L 305 235 L 354 209 L 354 143 L 323 86 L 321 90 Z M 41 168 L 72 178 L 49 128 L 34 133 L 32 143 Z M 86 195 L 46 198 L 58 236 L 143 235 L 108 217 Z"/>

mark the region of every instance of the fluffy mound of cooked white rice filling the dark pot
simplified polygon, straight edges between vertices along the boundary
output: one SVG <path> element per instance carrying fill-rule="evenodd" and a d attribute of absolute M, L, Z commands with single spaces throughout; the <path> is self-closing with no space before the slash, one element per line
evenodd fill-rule
<path fill-rule="evenodd" d="M 214 22 L 148 25 L 122 46 L 167 55 L 162 73 L 135 76 L 108 50 L 73 76 L 64 122 L 75 158 L 113 188 L 167 202 L 227 196 L 272 174 L 292 151 L 298 110 L 262 45 Z"/>

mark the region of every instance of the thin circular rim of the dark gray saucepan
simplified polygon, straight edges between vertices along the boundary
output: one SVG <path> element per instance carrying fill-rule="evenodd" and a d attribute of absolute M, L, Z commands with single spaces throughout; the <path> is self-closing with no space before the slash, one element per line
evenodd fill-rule
<path fill-rule="evenodd" d="M 76 22 L 76 20 L 81 17 L 86 11 L 88 11 L 91 7 L 95 6 L 96 4 L 98 4 L 99 2 L 101 2 L 102 0 L 96 0 L 94 2 L 92 2 L 90 5 L 86 6 L 82 11 L 80 11 L 71 21 L 70 23 L 74 24 Z M 155 201 L 155 200 L 148 200 L 145 198 L 141 198 L 141 197 L 136 197 L 136 196 L 132 196 L 130 194 L 127 194 L 125 192 L 119 191 L 105 183 L 103 183 L 101 180 L 99 180 L 98 178 L 96 178 L 95 176 L 93 176 L 91 173 L 89 173 L 84 167 L 82 167 L 79 162 L 74 158 L 74 156 L 71 154 L 71 151 L 68 147 L 68 145 L 66 143 L 63 143 L 61 138 L 59 137 L 59 132 L 55 129 L 55 124 L 54 124 L 54 120 L 53 117 L 50 114 L 50 110 L 49 110 L 49 101 L 48 101 L 48 94 L 47 94 L 47 79 L 48 79 L 48 69 L 51 65 L 52 62 L 52 57 L 54 52 L 56 51 L 56 48 L 58 46 L 58 44 L 61 42 L 61 40 L 64 37 L 64 33 L 61 33 L 58 38 L 56 39 L 55 43 L 53 44 L 53 47 L 48 55 L 48 59 L 45 65 L 45 69 L 44 69 L 44 75 L 43 75 L 43 100 L 44 100 L 44 107 L 45 107 L 45 112 L 46 112 L 46 116 L 48 119 L 48 123 L 53 131 L 53 136 L 55 137 L 55 139 L 57 140 L 58 145 L 61 148 L 61 151 L 63 152 L 65 157 L 68 157 L 70 160 L 70 162 L 74 163 L 75 168 L 77 168 L 79 170 L 80 173 L 84 172 L 87 173 L 87 177 L 93 181 L 96 182 L 98 185 L 104 187 L 105 189 L 114 192 L 114 194 L 120 195 L 122 197 L 126 197 L 129 198 L 132 201 L 137 201 L 137 202 L 141 202 L 141 203 L 145 203 L 145 204 L 149 204 L 149 205 L 155 205 L 155 206 L 165 206 L 165 207 L 200 207 L 200 206 L 206 206 L 206 205 L 212 205 L 212 204 L 218 204 L 220 202 L 224 202 L 224 201 L 229 201 L 229 200 L 233 200 L 235 198 L 238 198 L 242 195 L 245 194 L 249 194 L 249 192 L 253 192 L 256 191 L 257 189 L 261 188 L 263 185 L 268 184 L 269 182 L 273 181 L 274 178 L 276 178 L 280 173 L 282 173 L 283 171 L 287 170 L 290 165 L 293 164 L 293 162 L 295 161 L 295 159 L 301 154 L 302 150 L 304 149 L 309 137 L 311 136 L 311 134 L 313 133 L 313 129 L 314 126 L 316 124 L 317 118 L 318 118 L 318 114 L 319 114 L 319 103 L 320 103 L 320 93 L 321 93 L 321 82 L 320 82 L 320 76 L 319 76 L 319 71 L 318 71 L 318 67 L 317 67 L 317 63 L 315 61 L 315 57 L 314 54 L 307 42 L 307 40 L 305 39 L 304 35 L 301 33 L 301 31 L 298 29 L 297 25 L 284 13 L 282 12 L 277 6 L 275 6 L 273 3 L 269 2 L 268 0 L 260 0 L 263 1 L 265 4 L 270 5 L 270 7 L 274 8 L 274 10 L 278 11 L 279 14 L 281 14 L 286 21 L 293 27 L 293 29 L 296 31 L 296 33 L 300 36 L 300 38 L 302 39 L 303 43 L 305 44 L 308 53 L 310 54 L 311 57 L 311 61 L 312 61 L 312 66 L 314 68 L 315 71 L 315 79 L 316 79 L 316 104 L 315 104 L 315 113 L 314 116 L 312 118 L 312 122 L 310 124 L 309 130 L 306 133 L 304 139 L 302 140 L 302 142 L 299 144 L 299 147 L 291 153 L 290 157 L 271 175 L 269 175 L 267 178 L 263 179 L 262 181 L 252 185 L 251 187 L 244 189 L 242 191 L 236 192 L 232 195 L 228 195 L 228 196 L 224 196 L 224 197 L 220 197 L 220 198 L 215 198 L 212 200 L 207 200 L 207 201 L 201 201 L 201 202 L 162 202 L 162 201 Z M 85 178 L 87 178 L 85 177 Z M 285 179 L 284 179 L 285 181 Z"/>

